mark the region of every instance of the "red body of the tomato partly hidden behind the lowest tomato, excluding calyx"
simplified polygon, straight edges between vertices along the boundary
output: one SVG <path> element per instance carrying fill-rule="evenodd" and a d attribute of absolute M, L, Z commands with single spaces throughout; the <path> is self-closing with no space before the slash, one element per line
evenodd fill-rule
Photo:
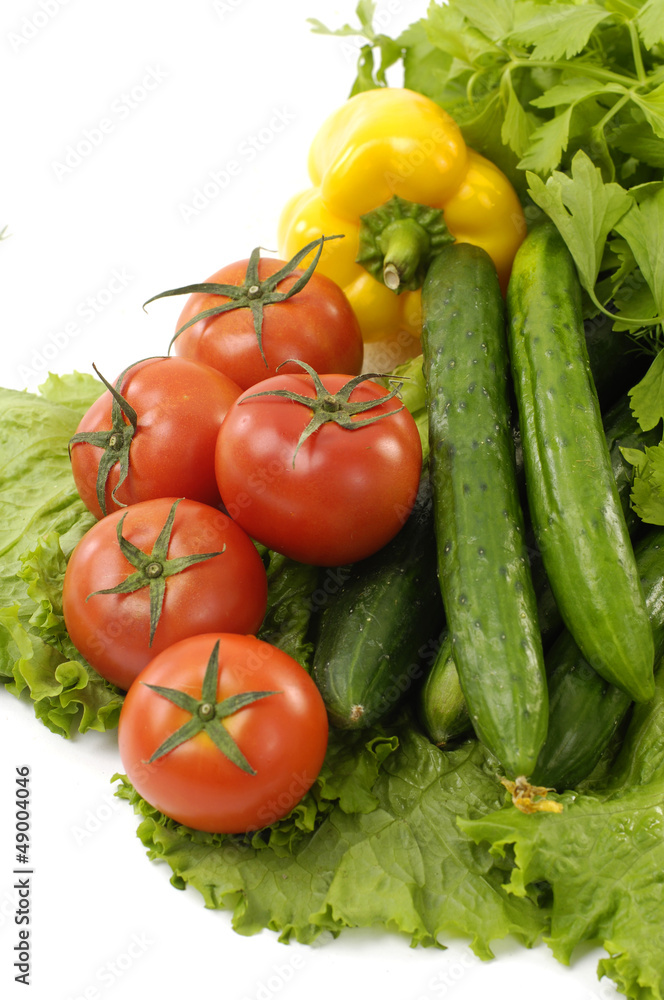
<path fill-rule="evenodd" d="M 154 548 L 174 498 L 146 500 L 102 518 L 74 549 L 65 572 L 62 606 L 67 631 L 80 653 L 103 677 L 126 690 L 162 649 L 200 632 L 257 632 L 267 606 L 267 574 L 255 545 L 229 517 L 195 500 L 181 500 L 168 540 L 167 560 L 219 552 L 181 572 L 166 571 L 159 623 L 150 642 L 150 572 L 131 593 L 99 594 L 137 573 L 123 555 L 122 534 L 154 563 Z M 223 550 L 223 551 L 222 551 Z M 150 581 L 153 582 L 150 582 Z M 94 596 L 90 597 L 90 594 Z"/>

